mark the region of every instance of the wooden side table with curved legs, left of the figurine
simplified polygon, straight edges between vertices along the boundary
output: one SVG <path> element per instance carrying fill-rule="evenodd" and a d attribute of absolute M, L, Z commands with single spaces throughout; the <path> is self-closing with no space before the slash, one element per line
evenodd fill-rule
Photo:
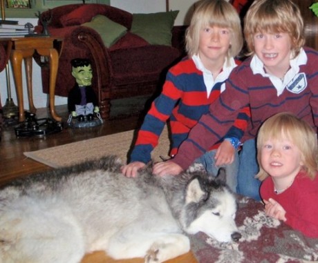
<path fill-rule="evenodd" d="M 62 41 L 55 37 L 21 37 L 12 38 L 12 50 L 10 61 L 12 64 L 13 75 L 15 78 L 15 88 L 17 89 L 17 101 L 19 107 L 19 121 L 24 121 L 24 96 L 22 88 L 22 60 L 26 68 L 26 83 L 28 88 L 28 101 L 30 112 L 35 113 L 37 109 L 33 104 L 32 96 L 32 57 L 35 50 L 41 56 L 49 58 L 50 63 L 50 90 L 49 90 L 49 107 L 50 115 L 56 121 L 61 121 L 55 111 L 55 83 L 57 77 L 57 68 L 59 66 L 59 55 L 53 47 L 54 41 Z"/>

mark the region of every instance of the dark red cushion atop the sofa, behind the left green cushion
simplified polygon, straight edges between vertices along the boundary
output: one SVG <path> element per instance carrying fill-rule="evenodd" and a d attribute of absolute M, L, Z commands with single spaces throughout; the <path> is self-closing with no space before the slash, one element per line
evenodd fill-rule
<path fill-rule="evenodd" d="M 60 21 L 62 26 L 75 26 L 81 25 L 91 21 L 97 14 L 103 14 L 116 23 L 120 23 L 122 26 L 130 29 L 133 15 L 119 8 L 113 6 L 101 5 L 98 3 L 88 3 L 79 8 L 76 8 L 68 14 L 64 14 Z"/>

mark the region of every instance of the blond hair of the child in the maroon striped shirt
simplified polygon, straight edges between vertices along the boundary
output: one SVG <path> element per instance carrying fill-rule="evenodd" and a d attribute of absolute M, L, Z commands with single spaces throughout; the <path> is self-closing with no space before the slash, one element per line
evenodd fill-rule
<path fill-rule="evenodd" d="M 244 18 L 247 55 L 253 55 L 253 37 L 257 33 L 288 33 L 293 58 L 305 44 L 303 18 L 299 7 L 290 0 L 255 0 Z"/>

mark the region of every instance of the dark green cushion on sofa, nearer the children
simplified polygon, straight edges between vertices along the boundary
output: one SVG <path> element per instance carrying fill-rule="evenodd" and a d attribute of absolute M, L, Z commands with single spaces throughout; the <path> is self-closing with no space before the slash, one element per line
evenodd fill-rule
<path fill-rule="evenodd" d="M 151 14 L 133 14 L 131 32 L 152 45 L 171 46 L 171 29 L 174 26 L 174 20 L 178 12 L 177 10 Z"/>

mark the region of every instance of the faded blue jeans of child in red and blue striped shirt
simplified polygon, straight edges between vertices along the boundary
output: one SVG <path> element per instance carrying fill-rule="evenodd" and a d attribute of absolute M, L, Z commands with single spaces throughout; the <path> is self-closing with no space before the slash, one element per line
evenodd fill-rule
<path fill-rule="evenodd" d="M 238 153 L 235 152 L 234 162 L 232 164 L 227 164 L 225 166 L 216 166 L 214 159 L 216 155 L 216 150 L 211 150 L 198 159 L 195 162 L 203 164 L 205 167 L 205 171 L 207 171 L 208 175 L 216 176 L 218 175 L 218 169 L 221 167 L 225 168 L 226 173 L 226 184 L 230 187 L 230 189 L 235 193 L 237 186 L 237 173 L 238 173 Z"/>

